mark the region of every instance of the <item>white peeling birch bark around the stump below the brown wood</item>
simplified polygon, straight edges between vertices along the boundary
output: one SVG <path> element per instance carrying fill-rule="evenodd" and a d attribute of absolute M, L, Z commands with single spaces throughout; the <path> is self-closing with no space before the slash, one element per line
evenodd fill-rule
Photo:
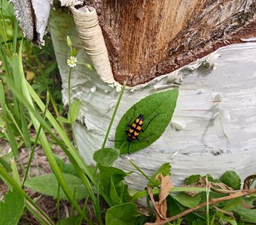
<path fill-rule="evenodd" d="M 63 101 L 67 104 L 67 35 L 78 49 L 78 61 L 89 62 L 89 59 L 71 16 L 53 11 L 50 32 L 62 76 Z M 175 184 L 181 184 L 187 175 L 198 173 L 218 177 L 234 169 L 242 178 L 255 173 L 255 55 L 254 42 L 227 46 L 151 83 L 126 89 L 111 137 L 121 116 L 133 104 L 154 92 L 171 89 L 174 82 L 180 83 L 172 123 L 154 144 L 130 157 L 148 175 L 162 163 L 171 163 Z M 72 99 L 81 100 L 81 124 L 74 125 L 75 138 L 87 164 L 94 163 L 93 153 L 102 145 L 117 103 L 117 89 L 120 86 L 104 83 L 96 72 L 85 67 L 78 66 L 72 73 Z M 109 147 L 113 145 L 108 142 Z M 121 156 L 115 166 L 134 170 L 126 156 Z M 126 181 L 136 189 L 143 189 L 147 183 L 139 172 Z"/>

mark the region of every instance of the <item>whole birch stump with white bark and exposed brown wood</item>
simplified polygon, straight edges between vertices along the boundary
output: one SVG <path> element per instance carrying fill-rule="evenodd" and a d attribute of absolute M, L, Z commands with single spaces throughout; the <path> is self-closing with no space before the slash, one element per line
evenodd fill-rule
<path fill-rule="evenodd" d="M 96 69 L 79 65 L 72 72 L 72 99 L 81 100 L 75 139 L 85 162 L 95 163 L 93 153 L 102 146 L 121 83 L 128 80 L 111 128 L 112 139 L 120 118 L 133 104 L 179 86 L 177 107 L 166 131 L 148 148 L 130 154 L 145 173 L 151 175 L 169 162 L 174 183 L 181 184 L 192 174 L 218 177 L 234 169 L 245 178 L 256 171 L 253 1 L 173 1 L 172 5 L 169 1 L 120 2 L 102 0 L 98 5 L 92 2 L 88 7 L 70 7 L 72 15 L 60 10 L 52 10 L 50 15 L 64 104 L 68 103 L 69 70 L 66 36 L 78 51 L 78 61 Z M 96 13 L 99 24 L 90 17 Z M 94 20 L 93 25 L 88 26 L 86 17 Z M 99 27 L 105 44 L 96 40 L 102 38 Z M 92 32 L 97 36 L 91 36 Z M 240 37 L 252 41 L 241 43 Z M 93 47 L 84 40 L 92 41 Z M 101 49 L 97 43 L 102 44 Z M 236 44 L 218 49 L 227 43 Z M 96 57 L 106 55 L 106 51 L 110 63 Z M 113 145 L 108 142 L 109 147 Z M 120 156 L 114 166 L 134 170 L 126 156 Z M 147 183 L 139 172 L 126 181 L 136 189 Z"/>

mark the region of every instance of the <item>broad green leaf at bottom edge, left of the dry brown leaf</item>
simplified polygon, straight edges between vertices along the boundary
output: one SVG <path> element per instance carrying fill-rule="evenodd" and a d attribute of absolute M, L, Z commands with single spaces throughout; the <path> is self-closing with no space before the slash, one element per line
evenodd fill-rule
<path fill-rule="evenodd" d="M 108 208 L 105 215 L 106 225 L 134 225 L 137 217 L 141 214 L 134 203 L 125 203 L 122 205 L 114 205 Z"/>

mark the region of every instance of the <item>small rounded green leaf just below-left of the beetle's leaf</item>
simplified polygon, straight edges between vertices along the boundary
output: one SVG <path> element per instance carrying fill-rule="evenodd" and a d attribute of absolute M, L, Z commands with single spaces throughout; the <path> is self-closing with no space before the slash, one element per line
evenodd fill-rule
<path fill-rule="evenodd" d="M 119 156 L 119 151 L 114 148 L 103 148 L 95 151 L 93 159 L 102 166 L 112 166 L 114 160 Z"/>

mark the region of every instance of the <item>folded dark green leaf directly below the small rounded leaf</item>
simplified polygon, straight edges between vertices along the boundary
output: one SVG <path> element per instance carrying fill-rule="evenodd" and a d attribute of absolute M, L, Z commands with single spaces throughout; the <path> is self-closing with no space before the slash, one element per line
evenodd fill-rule
<path fill-rule="evenodd" d="M 108 193 L 113 205 L 126 202 L 129 197 L 128 186 L 123 183 L 126 172 L 115 167 L 102 166 L 99 167 L 99 182 L 105 193 Z"/>

